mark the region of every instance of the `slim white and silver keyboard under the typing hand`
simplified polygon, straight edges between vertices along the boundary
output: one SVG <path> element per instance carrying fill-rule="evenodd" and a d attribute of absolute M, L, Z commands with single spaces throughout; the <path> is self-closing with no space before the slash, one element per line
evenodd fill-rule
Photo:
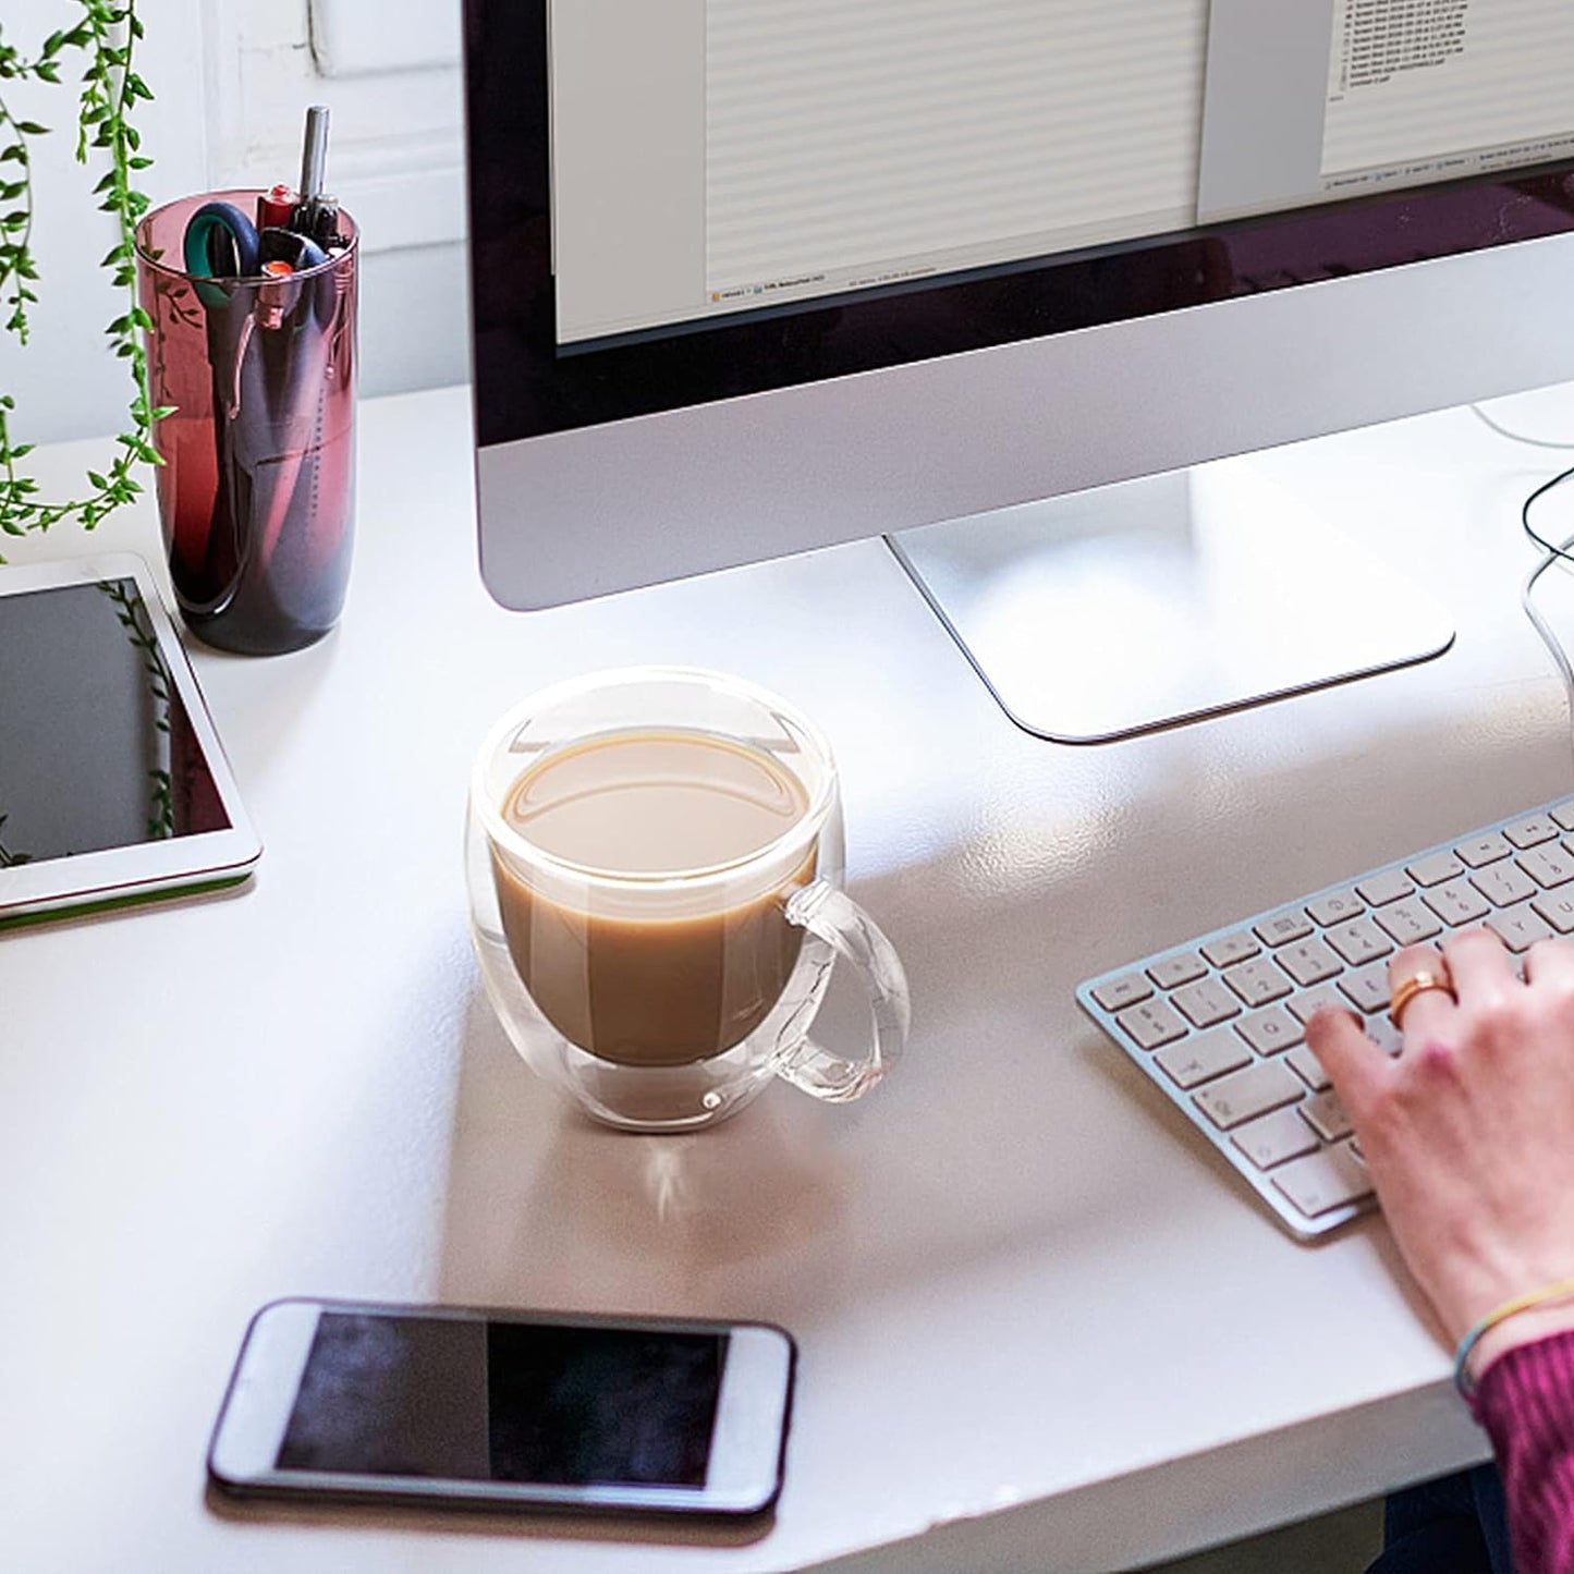
<path fill-rule="evenodd" d="M 1574 798 L 1089 979 L 1081 1007 L 1310 1240 L 1374 1206 L 1350 1124 L 1302 1029 L 1362 1014 L 1390 1053 L 1387 959 L 1486 924 L 1509 951 L 1574 933 Z"/>

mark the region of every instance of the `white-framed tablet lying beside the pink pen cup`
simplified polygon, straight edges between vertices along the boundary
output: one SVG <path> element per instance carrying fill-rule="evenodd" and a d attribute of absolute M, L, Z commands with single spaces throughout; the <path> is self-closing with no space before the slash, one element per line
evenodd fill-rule
<path fill-rule="evenodd" d="M 146 563 L 0 568 L 0 927 L 238 885 L 261 845 Z"/>

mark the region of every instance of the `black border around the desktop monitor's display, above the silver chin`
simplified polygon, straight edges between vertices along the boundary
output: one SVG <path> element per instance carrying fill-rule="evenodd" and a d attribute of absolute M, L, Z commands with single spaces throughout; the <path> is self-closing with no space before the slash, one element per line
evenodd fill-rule
<path fill-rule="evenodd" d="M 1574 233 L 1574 161 L 559 345 L 549 0 L 466 0 L 482 445 Z"/>

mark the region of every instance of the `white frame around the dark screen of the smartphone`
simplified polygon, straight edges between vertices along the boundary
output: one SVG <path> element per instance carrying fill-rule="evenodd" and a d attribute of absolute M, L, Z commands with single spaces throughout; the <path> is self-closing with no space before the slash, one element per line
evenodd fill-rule
<path fill-rule="evenodd" d="M 625 1327 L 674 1333 L 724 1333 L 721 1393 L 702 1487 L 537 1486 L 431 1476 L 277 1470 L 274 1461 L 294 1409 L 316 1325 L 324 1311 L 371 1316 L 504 1319 L 559 1327 Z M 619 1317 L 485 1306 L 397 1305 L 283 1299 L 250 1322 L 208 1448 L 208 1473 L 230 1492 L 290 1497 L 425 1500 L 461 1506 L 567 1508 L 587 1513 L 757 1514 L 781 1491 L 795 1347 L 782 1328 L 760 1322 Z"/>

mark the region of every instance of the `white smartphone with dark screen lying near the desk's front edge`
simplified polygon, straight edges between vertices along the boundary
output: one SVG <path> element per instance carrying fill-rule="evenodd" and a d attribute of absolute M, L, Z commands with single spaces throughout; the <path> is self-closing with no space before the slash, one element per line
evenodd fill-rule
<path fill-rule="evenodd" d="M 768 1324 L 277 1300 L 208 1450 L 227 1492 L 759 1514 L 796 1349 Z"/>

